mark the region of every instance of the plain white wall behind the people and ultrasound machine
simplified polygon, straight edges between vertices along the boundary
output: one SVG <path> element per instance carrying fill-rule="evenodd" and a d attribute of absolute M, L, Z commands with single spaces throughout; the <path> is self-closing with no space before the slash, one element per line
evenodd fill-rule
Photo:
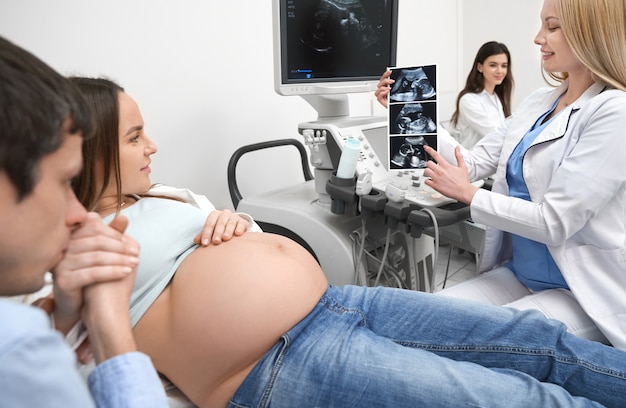
<path fill-rule="evenodd" d="M 514 44 L 532 46 L 539 2 L 402 0 L 398 65 L 439 64 L 447 117 L 475 50 L 494 37 L 511 46 L 516 94 L 526 93 L 523 71 L 539 75 L 538 54 L 522 61 L 526 48 Z M 226 167 L 233 151 L 302 140 L 297 124 L 316 118 L 300 98 L 273 90 L 271 19 L 269 0 L 0 0 L 0 35 L 64 74 L 106 75 L 137 100 L 159 146 L 153 181 L 206 194 L 218 208 L 232 208 Z M 351 104 L 354 115 L 385 114 L 370 94 L 352 96 Z M 301 180 L 287 149 L 242 159 L 244 196 Z"/>

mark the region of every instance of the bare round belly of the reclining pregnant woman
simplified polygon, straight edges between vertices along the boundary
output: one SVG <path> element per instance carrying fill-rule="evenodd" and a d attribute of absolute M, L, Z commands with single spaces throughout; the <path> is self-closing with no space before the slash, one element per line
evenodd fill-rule
<path fill-rule="evenodd" d="M 135 336 L 157 370 L 194 403 L 225 406 L 327 285 L 300 245 L 249 232 L 190 254 L 135 326 Z"/>

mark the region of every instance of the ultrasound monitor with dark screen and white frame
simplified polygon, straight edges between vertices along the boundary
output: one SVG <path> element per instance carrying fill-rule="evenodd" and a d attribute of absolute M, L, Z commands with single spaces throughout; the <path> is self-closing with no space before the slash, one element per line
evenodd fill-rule
<path fill-rule="evenodd" d="M 376 90 L 396 64 L 399 0 L 272 0 L 274 88 L 320 118 L 349 116 L 347 95 Z"/>

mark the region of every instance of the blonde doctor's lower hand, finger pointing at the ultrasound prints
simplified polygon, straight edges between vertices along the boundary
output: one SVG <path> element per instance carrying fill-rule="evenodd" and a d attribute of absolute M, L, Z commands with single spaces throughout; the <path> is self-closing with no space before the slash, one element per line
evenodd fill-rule
<path fill-rule="evenodd" d="M 478 191 L 478 187 L 470 183 L 467 166 L 461 154 L 461 147 L 454 149 L 457 166 L 448 163 L 435 149 L 430 146 L 424 146 L 426 153 L 437 162 L 432 160 L 426 165 L 424 176 L 428 177 L 425 181 L 426 185 L 434 188 L 446 197 L 453 198 L 465 204 L 470 204 L 474 198 L 474 194 Z"/>

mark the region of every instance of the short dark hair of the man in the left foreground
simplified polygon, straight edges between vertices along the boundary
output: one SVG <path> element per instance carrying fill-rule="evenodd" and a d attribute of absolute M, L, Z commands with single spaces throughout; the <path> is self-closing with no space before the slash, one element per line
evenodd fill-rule
<path fill-rule="evenodd" d="M 91 137 L 91 112 L 74 85 L 0 37 L 0 172 L 19 200 L 32 192 L 41 159 L 62 145 L 68 119 L 70 134 Z"/>

